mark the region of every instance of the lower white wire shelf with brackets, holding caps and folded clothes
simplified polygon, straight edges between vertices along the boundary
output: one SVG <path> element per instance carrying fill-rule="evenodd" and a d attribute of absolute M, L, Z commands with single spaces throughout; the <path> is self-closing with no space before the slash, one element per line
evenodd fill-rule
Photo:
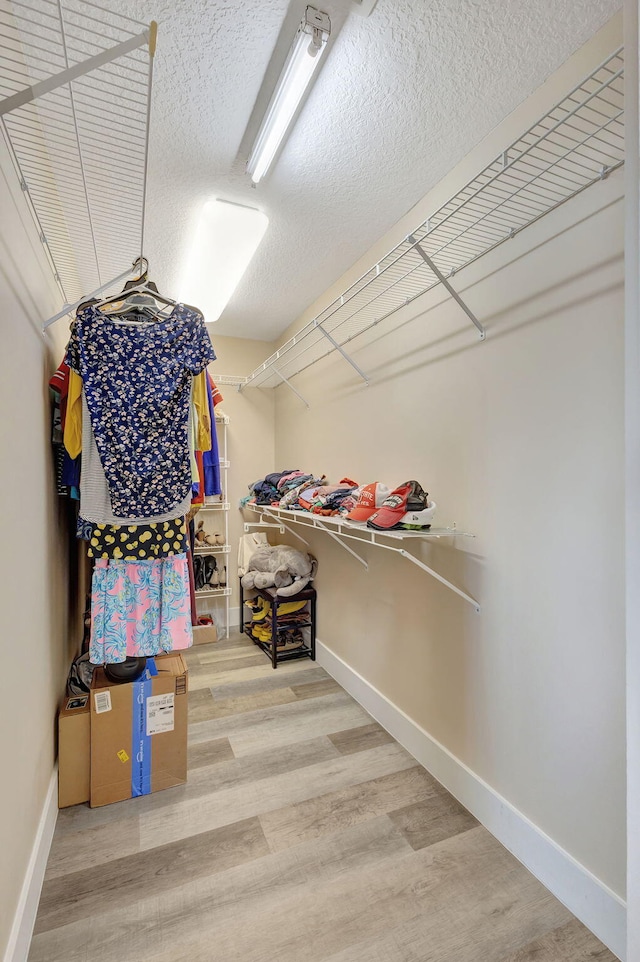
<path fill-rule="evenodd" d="M 468 531 L 459 531 L 455 526 L 450 528 L 429 528 L 425 531 L 376 531 L 373 528 L 368 528 L 362 521 L 349 521 L 347 518 L 340 516 L 327 517 L 325 515 L 312 514 L 309 511 L 292 511 L 289 508 L 272 508 L 256 504 L 246 504 L 243 506 L 243 510 L 250 511 L 260 517 L 257 523 L 245 521 L 245 531 L 250 531 L 251 528 L 254 527 L 278 527 L 280 528 L 281 534 L 284 534 L 286 530 L 289 534 L 293 535 L 294 538 L 308 545 L 308 542 L 305 541 L 299 532 L 289 527 L 289 524 L 293 523 L 306 528 L 314 528 L 317 531 L 323 531 L 334 541 L 337 541 L 338 544 L 344 548 L 345 551 L 348 551 L 356 561 L 359 561 L 366 570 L 369 569 L 369 564 L 366 559 L 354 551 L 348 544 L 345 544 L 345 539 L 358 541 L 363 545 L 373 545 L 376 548 L 384 548 L 387 551 L 394 551 L 402 558 L 406 558 L 418 568 L 426 571 L 427 574 L 435 578 L 436 581 L 439 581 L 440 584 L 449 588 L 461 598 L 464 598 L 470 605 L 473 605 L 476 611 L 480 611 L 480 605 L 475 598 L 472 598 L 466 591 L 458 588 L 453 582 L 444 578 L 437 571 L 434 571 L 433 568 L 425 564 L 420 558 L 416 558 L 416 556 L 408 550 L 408 547 L 404 545 L 404 542 L 407 542 L 408 546 L 412 543 L 415 545 L 420 541 L 439 541 L 445 538 L 474 538 L 475 535 L 470 534 Z"/>

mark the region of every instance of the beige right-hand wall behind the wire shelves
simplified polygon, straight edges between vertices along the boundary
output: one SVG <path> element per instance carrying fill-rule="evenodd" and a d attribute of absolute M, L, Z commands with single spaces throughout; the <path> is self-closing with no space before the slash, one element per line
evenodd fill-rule
<path fill-rule="evenodd" d="M 618 17 L 301 320 L 620 39 Z M 371 386 L 336 355 L 295 379 L 310 410 L 280 387 L 275 459 L 332 480 L 416 478 L 439 522 L 476 535 L 421 557 L 478 598 L 479 615 L 401 558 L 365 548 L 365 572 L 312 536 L 320 638 L 614 899 L 626 853 L 623 222 L 617 173 L 456 275 L 486 342 L 434 291 L 350 345 Z"/>

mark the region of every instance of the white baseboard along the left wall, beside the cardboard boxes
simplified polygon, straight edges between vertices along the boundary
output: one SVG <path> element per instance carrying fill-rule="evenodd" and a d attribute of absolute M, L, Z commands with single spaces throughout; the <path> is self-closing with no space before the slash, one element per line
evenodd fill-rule
<path fill-rule="evenodd" d="M 58 818 L 58 765 L 51 774 L 31 857 L 25 873 L 18 907 L 13 919 L 4 962 L 27 962 L 49 849 Z"/>

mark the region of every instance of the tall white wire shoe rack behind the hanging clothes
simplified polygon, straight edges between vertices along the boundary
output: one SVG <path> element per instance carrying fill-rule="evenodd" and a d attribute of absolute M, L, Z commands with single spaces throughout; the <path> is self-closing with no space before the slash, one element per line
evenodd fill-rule
<path fill-rule="evenodd" d="M 204 504 L 196 515 L 196 527 L 204 522 L 206 544 L 194 548 L 194 564 L 200 559 L 206 565 L 207 581 L 203 588 L 196 588 L 198 614 L 210 614 L 218 627 L 218 633 L 229 637 L 229 599 L 231 596 L 229 557 L 229 501 L 228 473 L 231 465 L 227 456 L 227 427 L 229 418 L 216 415 L 218 450 L 220 451 L 219 495 L 205 498 Z M 212 543 L 213 542 L 213 543 Z M 197 560 L 196 560 L 197 559 Z M 221 630 L 222 629 L 222 630 Z"/>

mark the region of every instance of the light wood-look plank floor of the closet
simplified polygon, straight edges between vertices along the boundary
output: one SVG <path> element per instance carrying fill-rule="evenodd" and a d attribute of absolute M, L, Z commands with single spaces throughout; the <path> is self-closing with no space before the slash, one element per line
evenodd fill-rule
<path fill-rule="evenodd" d="M 60 812 L 29 962 L 614 962 L 323 669 L 187 660 L 188 783 Z"/>

